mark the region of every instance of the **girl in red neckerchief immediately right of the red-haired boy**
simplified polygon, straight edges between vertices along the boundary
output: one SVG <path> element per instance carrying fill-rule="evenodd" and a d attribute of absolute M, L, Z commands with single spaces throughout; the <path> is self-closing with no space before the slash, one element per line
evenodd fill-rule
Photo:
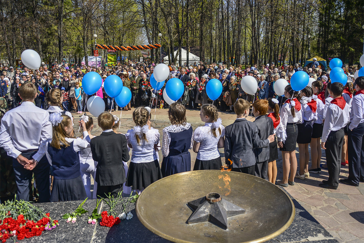
<path fill-rule="evenodd" d="M 279 101 L 278 99 L 268 99 L 268 117 L 273 120 L 274 133 L 277 135 L 278 126 L 281 124 L 281 117 L 279 115 Z M 277 135 L 278 136 L 278 135 Z M 277 178 L 277 164 L 278 159 L 278 146 L 277 138 L 274 137 L 274 141 L 269 144 L 270 155 L 268 160 L 268 181 L 276 183 Z"/>

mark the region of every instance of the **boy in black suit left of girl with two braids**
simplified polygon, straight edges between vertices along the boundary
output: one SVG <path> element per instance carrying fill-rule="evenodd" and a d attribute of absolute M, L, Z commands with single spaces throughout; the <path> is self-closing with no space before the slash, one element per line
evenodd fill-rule
<path fill-rule="evenodd" d="M 90 142 L 92 158 L 98 161 L 95 177 L 98 183 L 96 195 L 105 197 L 110 193 L 116 197 L 123 190 L 123 183 L 126 181 L 123 161 L 130 158 L 126 137 L 112 131 L 115 120 L 110 113 L 101 113 L 97 122 L 103 131 Z"/>

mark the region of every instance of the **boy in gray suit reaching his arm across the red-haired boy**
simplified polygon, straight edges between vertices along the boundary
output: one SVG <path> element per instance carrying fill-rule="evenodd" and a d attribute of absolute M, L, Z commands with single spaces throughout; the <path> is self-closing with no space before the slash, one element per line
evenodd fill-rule
<path fill-rule="evenodd" d="M 256 158 L 253 148 L 266 148 L 274 141 L 274 134 L 266 140 L 260 140 L 258 128 L 254 122 L 246 119 L 250 103 L 238 99 L 234 103 L 237 119 L 225 128 L 225 161 L 232 171 L 254 176 Z M 230 163 L 229 163 L 230 162 Z"/>

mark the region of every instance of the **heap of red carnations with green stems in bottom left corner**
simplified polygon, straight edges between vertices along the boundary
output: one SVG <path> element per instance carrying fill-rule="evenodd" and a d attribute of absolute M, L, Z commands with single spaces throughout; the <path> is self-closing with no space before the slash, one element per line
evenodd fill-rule
<path fill-rule="evenodd" d="M 15 236 L 18 240 L 39 236 L 44 230 L 58 226 L 58 220 L 52 220 L 49 213 L 23 200 L 5 201 L 0 204 L 0 240 L 6 242 Z"/>

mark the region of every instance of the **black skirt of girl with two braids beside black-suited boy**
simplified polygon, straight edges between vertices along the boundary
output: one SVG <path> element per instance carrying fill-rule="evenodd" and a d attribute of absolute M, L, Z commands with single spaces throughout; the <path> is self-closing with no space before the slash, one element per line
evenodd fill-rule
<path fill-rule="evenodd" d="M 162 171 L 158 160 L 147 163 L 130 162 L 126 186 L 132 187 L 133 190 L 142 190 L 161 178 Z"/>

